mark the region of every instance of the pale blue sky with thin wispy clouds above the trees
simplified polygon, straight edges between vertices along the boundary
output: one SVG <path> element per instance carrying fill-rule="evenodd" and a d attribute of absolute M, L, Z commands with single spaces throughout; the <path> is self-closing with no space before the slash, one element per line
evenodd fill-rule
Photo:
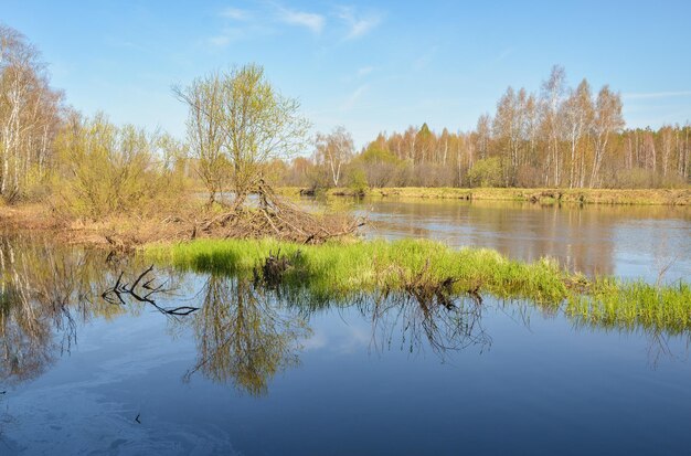
<path fill-rule="evenodd" d="M 171 87 L 257 63 L 313 131 L 358 148 L 427 123 L 466 131 L 554 64 L 621 93 L 629 127 L 691 120 L 691 1 L 0 0 L 86 115 L 185 132 Z"/>

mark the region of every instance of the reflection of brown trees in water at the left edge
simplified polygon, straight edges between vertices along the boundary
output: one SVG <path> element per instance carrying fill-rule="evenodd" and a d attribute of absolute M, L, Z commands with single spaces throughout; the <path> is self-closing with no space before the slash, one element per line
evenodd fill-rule
<path fill-rule="evenodd" d="M 124 312 L 98 299 L 111 272 L 96 251 L 0 237 L 0 381 L 41 375 L 77 340 L 77 325 Z"/>

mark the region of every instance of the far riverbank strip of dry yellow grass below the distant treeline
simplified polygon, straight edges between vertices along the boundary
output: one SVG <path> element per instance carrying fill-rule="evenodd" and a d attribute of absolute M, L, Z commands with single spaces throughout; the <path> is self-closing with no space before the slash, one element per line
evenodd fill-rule
<path fill-rule="evenodd" d="M 310 193 L 295 187 L 280 188 L 286 197 Z M 691 189 L 514 189 L 514 188 L 383 188 L 369 189 L 364 193 L 349 188 L 329 189 L 327 197 L 369 197 L 398 199 L 445 199 L 445 200 L 493 200 L 527 201 L 539 204 L 648 204 L 648 205 L 691 205 Z"/>

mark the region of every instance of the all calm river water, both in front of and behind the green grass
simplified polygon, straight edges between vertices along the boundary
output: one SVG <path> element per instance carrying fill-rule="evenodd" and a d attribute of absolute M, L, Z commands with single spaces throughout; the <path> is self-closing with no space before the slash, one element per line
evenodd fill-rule
<path fill-rule="evenodd" d="M 366 203 L 380 235 L 689 279 L 673 209 Z M 0 454 L 688 454 L 689 335 L 485 297 L 317 299 L 0 240 Z M 657 263 L 656 263 L 657 262 Z M 148 283 L 143 288 L 142 284 Z M 161 287 L 158 289 L 158 287 Z M 125 287 L 127 288 L 127 287 Z M 158 308 L 156 307 L 158 306 Z M 167 309 L 200 307 L 188 316 Z"/>

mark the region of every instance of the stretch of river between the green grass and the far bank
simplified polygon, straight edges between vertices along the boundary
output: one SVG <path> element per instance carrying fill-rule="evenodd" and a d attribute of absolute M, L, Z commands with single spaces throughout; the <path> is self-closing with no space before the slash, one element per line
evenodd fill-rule
<path fill-rule="evenodd" d="M 525 261 L 551 256 L 588 275 L 655 282 L 671 263 L 668 280 L 691 276 L 689 208 L 365 200 L 359 211 L 373 236 L 486 246 Z"/>

